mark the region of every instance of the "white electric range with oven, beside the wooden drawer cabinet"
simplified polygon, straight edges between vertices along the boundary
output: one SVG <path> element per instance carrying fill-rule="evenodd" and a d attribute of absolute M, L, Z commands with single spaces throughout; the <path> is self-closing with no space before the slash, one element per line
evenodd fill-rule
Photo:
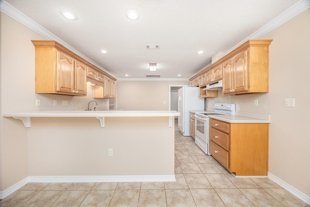
<path fill-rule="evenodd" d="M 195 143 L 202 151 L 209 153 L 209 117 L 208 115 L 235 115 L 235 104 L 214 104 L 214 112 L 196 112 L 195 114 Z"/>

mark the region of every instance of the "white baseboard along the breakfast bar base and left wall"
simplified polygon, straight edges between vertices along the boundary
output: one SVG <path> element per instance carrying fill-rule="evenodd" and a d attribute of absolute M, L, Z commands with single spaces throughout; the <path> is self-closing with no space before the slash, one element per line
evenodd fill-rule
<path fill-rule="evenodd" d="M 28 176 L 4 191 L 4 199 L 27 183 L 103 183 L 103 182 L 174 182 L 175 175 L 111 175 L 111 176 Z"/>

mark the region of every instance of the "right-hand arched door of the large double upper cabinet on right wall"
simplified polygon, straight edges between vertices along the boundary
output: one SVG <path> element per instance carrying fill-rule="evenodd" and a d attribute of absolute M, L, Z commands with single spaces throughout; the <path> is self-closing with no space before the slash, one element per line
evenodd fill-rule
<path fill-rule="evenodd" d="M 248 91 L 248 50 L 233 58 L 233 72 L 235 92 Z"/>

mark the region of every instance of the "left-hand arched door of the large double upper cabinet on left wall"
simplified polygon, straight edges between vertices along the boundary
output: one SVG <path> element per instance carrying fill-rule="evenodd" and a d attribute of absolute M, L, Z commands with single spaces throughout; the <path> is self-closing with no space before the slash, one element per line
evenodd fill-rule
<path fill-rule="evenodd" d="M 56 52 L 56 91 L 74 93 L 74 60 L 60 51 Z"/>

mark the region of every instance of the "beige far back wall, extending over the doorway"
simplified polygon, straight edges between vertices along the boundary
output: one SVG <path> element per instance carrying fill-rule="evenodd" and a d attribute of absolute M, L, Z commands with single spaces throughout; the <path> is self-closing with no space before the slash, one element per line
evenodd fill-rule
<path fill-rule="evenodd" d="M 168 110 L 169 85 L 188 85 L 189 81 L 117 81 L 117 109 Z M 166 103 L 164 103 L 164 101 Z"/>

